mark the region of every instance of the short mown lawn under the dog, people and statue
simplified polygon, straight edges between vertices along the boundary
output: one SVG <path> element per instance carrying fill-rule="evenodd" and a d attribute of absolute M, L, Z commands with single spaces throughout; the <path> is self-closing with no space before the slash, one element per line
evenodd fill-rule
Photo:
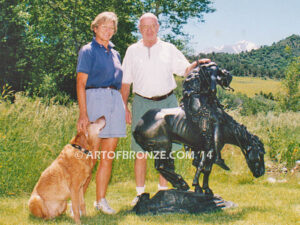
<path fill-rule="evenodd" d="M 214 193 L 225 200 L 238 204 L 237 208 L 218 212 L 137 216 L 130 212 L 130 202 L 135 196 L 133 180 L 113 182 L 109 185 L 107 199 L 117 210 L 116 215 L 104 215 L 93 208 L 95 181 L 91 182 L 85 195 L 87 216 L 83 224 L 300 224 L 300 184 L 295 175 L 277 174 L 284 182 L 268 183 L 269 174 L 255 179 L 250 174 L 240 151 L 231 146 L 224 149 L 224 159 L 231 167 L 227 172 L 215 166 L 210 186 Z M 115 163 L 118 163 L 116 161 Z M 149 165 L 152 167 L 153 165 Z M 192 167 L 192 166 L 191 166 Z M 192 175 L 185 177 L 189 184 Z M 274 175 L 272 175 L 274 176 Z M 153 196 L 157 182 L 147 182 L 146 190 Z M 29 194 L 0 198 L 0 224 L 72 224 L 69 213 L 54 220 L 44 221 L 30 215 L 27 208 Z"/>

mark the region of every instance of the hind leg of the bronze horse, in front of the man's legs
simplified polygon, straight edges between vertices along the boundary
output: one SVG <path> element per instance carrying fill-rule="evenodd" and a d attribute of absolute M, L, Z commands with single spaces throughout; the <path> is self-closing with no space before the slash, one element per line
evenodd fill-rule
<path fill-rule="evenodd" d="M 163 152 L 166 154 L 162 154 Z M 174 172 L 174 159 L 172 159 L 169 155 L 170 150 L 162 150 L 159 153 L 160 154 L 155 157 L 155 168 L 173 185 L 173 187 L 187 191 L 190 188 L 189 185 L 185 182 L 182 176 Z"/>

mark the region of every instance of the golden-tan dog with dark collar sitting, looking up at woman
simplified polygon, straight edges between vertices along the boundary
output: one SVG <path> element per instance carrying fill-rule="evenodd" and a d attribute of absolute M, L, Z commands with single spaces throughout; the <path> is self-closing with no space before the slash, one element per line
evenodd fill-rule
<path fill-rule="evenodd" d="M 52 219 L 67 209 L 71 198 L 74 220 L 80 223 L 85 215 L 84 192 L 95 165 L 93 143 L 105 126 L 102 116 L 87 127 L 87 133 L 77 133 L 54 162 L 42 173 L 28 202 L 30 212 L 44 219 Z"/>

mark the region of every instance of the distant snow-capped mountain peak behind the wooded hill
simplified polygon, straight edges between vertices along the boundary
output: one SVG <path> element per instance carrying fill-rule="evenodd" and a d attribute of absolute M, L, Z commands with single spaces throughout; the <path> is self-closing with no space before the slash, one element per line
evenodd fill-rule
<path fill-rule="evenodd" d="M 204 50 L 201 51 L 201 53 L 220 53 L 220 52 L 224 52 L 224 53 L 232 53 L 232 54 L 238 54 L 241 52 L 250 52 L 253 49 L 258 49 L 259 47 L 250 42 L 250 41 L 239 41 L 233 45 L 222 45 L 219 47 L 211 47 L 211 48 L 206 48 Z"/>

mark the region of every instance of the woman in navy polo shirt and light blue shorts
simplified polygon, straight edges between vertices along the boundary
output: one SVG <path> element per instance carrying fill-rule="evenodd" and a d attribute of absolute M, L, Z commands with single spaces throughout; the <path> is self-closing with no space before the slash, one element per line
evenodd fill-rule
<path fill-rule="evenodd" d="M 95 207 L 106 214 L 115 213 L 105 199 L 113 162 L 109 157 L 112 154 L 108 153 L 115 151 L 119 137 L 126 136 L 125 108 L 119 92 L 123 76 L 121 60 L 110 42 L 117 31 L 117 23 L 113 12 L 103 12 L 95 18 L 91 24 L 95 36 L 91 43 L 81 48 L 77 65 L 78 132 L 85 132 L 89 121 L 102 115 L 106 119 L 106 126 L 93 147 L 93 150 L 101 149 Z"/>

